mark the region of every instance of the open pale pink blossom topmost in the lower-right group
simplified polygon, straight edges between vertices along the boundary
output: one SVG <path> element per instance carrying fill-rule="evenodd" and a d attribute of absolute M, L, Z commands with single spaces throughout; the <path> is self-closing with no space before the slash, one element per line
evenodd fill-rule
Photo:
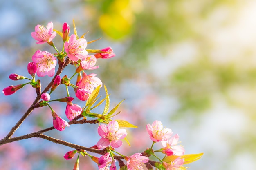
<path fill-rule="evenodd" d="M 154 142 L 166 141 L 173 134 L 171 129 L 164 128 L 161 121 L 155 120 L 152 124 L 146 126 L 150 139 Z"/>

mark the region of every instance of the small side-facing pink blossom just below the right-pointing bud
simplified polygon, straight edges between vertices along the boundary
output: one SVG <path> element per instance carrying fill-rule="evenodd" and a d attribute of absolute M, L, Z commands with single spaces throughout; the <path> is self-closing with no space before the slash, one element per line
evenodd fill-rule
<path fill-rule="evenodd" d="M 99 68 L 99 66 L 94 66 L 97 59 L 94 55 L 87 55 L 85 59 L 80 62 L 79 67 L 76 68 L 76 73 L 79 73 L 82 70 L 94 70 Z"/>

